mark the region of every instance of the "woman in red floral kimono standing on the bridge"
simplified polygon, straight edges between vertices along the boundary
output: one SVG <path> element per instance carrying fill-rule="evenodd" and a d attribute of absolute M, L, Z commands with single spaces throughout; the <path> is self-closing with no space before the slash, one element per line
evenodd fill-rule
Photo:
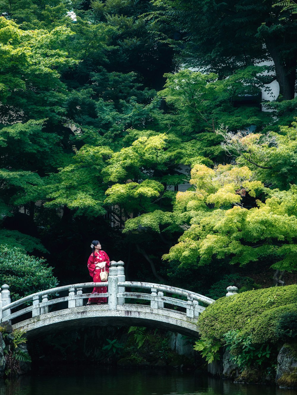
<path fill-rule="evenodd" d="M 88 269 L 90 272 L 90 276 L 93 278 L 94 282 L 101 282 L 100 273 L 104 271 L 104 269 L 109 273 L 109 263 L 110 260 L 106 252 L 101 250 L 101 245 L 98 240 L 93 240 L 91 244 L 91 248 L 93 250 L 90 258 L 88 260 Z M 94 287 L 92 293 L 106 293 L 107 287 Z M 106 297 L 90 297 L 87 301 L 86 306 L 90 306 L 91 303 L 97 303 L 97 305 L 101 305 L 101 303 L 106 303 Z"/>

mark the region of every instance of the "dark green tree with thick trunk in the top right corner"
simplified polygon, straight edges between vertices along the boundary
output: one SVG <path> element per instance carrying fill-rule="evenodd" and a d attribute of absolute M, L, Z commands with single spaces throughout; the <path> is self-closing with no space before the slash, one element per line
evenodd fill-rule
<path fill-rule="evenodd" d="M 159 8 L 148 18 L 172 27 L 161 34 L 189 65 L 229 76 L 263 60 L 274 62 L 282 98 L 294 98 L 296 81 L 295 14 L 273 0 L 154 0 Z M 176 36 L 179 40 L 176 41 Z M 187 60 L 185 60 L 187 59 Z"/>

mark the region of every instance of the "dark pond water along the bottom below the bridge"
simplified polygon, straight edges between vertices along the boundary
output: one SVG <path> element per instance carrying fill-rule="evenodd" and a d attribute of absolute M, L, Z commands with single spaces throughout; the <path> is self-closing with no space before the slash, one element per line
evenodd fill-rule
<path fill-rule="evenodd" d="M 233 384 L 204 373 L 105 370 L 91 367 L 55 375 L 0 380 L 0 395 L 296 395 L 293 389 Z"/>

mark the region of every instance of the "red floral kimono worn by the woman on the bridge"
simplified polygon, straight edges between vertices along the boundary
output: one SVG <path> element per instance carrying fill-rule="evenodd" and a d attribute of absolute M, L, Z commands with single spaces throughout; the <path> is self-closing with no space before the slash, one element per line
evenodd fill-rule
<path fill-rule="evenodd" d="M 95 258 L 94 258 L 95 255 Z M 95 265 L 96 263 L 99 262 L 104 262 L 106 261 L 106 265 L 105 265 L 105 269 L 106 271 L 109 273 L 109 263 L 110 260 L 108 258 L 108 255 L 106 254 L 106 252 L 100 250 L 99 252 L 92 252 L 92 254 L 90 255 L 90 258 L 88 260 L 88 269 L 90 272 L 90 276 L 93 278 L 94 282 L 101 282 L 100 280 L 100 272 L 104 271 L 104 269 L 95 269 Z M 92 293 L 106 293 L 107 292 L 107 287 L 94 287 L 93 292 Z M 107 298 L 106 297 L 90 297 L 89 298 L 89 302 L 101 302 L 101 303 L 106 303 Z"/>

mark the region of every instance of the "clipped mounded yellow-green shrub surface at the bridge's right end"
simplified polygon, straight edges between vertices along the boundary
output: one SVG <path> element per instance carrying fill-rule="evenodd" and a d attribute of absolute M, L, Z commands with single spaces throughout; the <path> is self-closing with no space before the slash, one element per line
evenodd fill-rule
<path fill-rule="evenodd" d="M 240 329 L 257 343 L 274 341 L 278 317 L 297 300 L 297 285 L 247 291 L 222 297 L 208 306 L 198 320 L 202 337 L 222 341 L 224 333 Z"/>

